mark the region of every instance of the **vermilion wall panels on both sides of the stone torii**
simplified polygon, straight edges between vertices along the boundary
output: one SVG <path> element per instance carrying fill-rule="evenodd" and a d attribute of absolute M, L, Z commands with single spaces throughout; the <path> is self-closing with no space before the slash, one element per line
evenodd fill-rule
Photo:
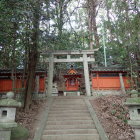
<path fill-rule="evenodd" d="M 125 88 L 130 88 L 129 79 L 123 77 Z M 22 80 L 17 79 L 15 81 L 16 91 L 22 88 Z M 93 89 L 114 89 L 119 90 L 121 88 L 119 77 L 95 77 L 92 78 L 92 88 Z M 0 79 L 0 92 L 12 91 L 12 80 L 10 79 Z M 45 78 L 40 78 L 39 80 L 39 92 L 45 91 Z"/>

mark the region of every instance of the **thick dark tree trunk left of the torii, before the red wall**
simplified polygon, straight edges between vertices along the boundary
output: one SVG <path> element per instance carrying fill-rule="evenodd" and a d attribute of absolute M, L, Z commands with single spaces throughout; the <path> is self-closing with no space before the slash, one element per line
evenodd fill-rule
<path fill-rule="evenodd" d="M 32 93 L 34 91 L 35 85 L 35 71 L 38 60 L 38 38 L 39 38 L 39 19 L 40 19 L 40 2 L 34 2 L 33 9 L 33 34 L 31 37 L 32 45 L 29 52 L 29 62 L 28 62 L 28 76 L 27 83 L 25 89 L 25 110 L 28 111 L 30 109 L 30 105 L 32 103 Z"/>

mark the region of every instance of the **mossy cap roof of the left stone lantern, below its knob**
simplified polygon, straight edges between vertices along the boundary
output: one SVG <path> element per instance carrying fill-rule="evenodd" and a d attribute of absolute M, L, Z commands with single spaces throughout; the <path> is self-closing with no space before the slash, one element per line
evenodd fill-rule
<path fill-rule="evenodd" d="M 21 103 L 13 99 L 0 100 L 0 106 L 21 107 Z"/>

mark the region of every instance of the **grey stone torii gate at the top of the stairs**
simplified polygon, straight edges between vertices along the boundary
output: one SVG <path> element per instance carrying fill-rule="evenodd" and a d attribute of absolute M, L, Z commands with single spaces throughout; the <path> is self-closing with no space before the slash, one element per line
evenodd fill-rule
<path fill-rule="evenodd" d="M 91 56 L 94 55 L 94 52 L 98 51 L 98 49 L 93 50 L 75 50 L 75 51 L 54 51 L 54 52 L 46 52 L 42 54 L 50 54 L 49 59 L 49 70 L 48 70 L 48 90 L 47 96 L 52 96 L 52 86 L 53 86 L 53 72 L 54 72 L 54 63 L 64 63 L 64 62 L 83 62 L 84 66 L 84 75 L 85 75 L 85 87 L 86 87 L 86 95 L 91 96 L 90 89 L 90 80 L 89 80 L 89 67 L 88 62 L 95 62 L 95 59 Z M 71 58 L 72 55 L 82 55 L 79 58 Z M 56 58 L 56 56 L 66 56 L 66 58 Z"/>

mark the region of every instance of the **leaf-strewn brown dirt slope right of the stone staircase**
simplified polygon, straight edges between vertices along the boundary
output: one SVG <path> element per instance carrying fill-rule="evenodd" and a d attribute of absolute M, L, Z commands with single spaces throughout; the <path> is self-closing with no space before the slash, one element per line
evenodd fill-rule
<path fill-rule="evenodd" d="M 123 105 L 126 98 L 127 95 L 110 95 L 90 101 L 110 140 L 134 140 L 134 131 L 127 124 L 128 108 Z"/>

